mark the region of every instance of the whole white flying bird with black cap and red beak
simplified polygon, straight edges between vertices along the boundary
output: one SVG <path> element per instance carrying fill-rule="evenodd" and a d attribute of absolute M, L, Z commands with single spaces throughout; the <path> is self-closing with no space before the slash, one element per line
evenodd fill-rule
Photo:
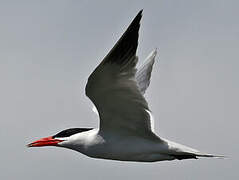
<path fill-rule="evenodd" d="M 29 147 L 57 146 L 93 158 L 138 162 L 220 157 L 155 134 L 153 116 L 143 95 L 150 83 L 157 50 L 137 71 L 141 17 L 142 10 L 88 78 L 86 95 L 97 109 L 99 128 L 66 129 L 30 143 Z"/>

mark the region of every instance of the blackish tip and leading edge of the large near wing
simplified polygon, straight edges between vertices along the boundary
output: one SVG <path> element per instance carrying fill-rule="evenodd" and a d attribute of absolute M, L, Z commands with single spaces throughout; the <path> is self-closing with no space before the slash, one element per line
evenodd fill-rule
<path fill-rule="evenodd" d="M 85 88 L 85 94 L 91 99 L 94 104 L 95 102 L 93 98 L 91 98 L 91 92 L 94 88 L 96 88 L 95 84 L 101 84 L 100 81 L 102 81 L 102 78 L 100 78 L 100 76 L 105 69 L 103 68 L 104 65 L 116 64 L 118 65 L 118 67 L 120 67 L 115 68 L 116 71 L 122 71 L 123 68 L 125 68 L 125 70 L 128 68 L 135 68 L 138 61 L 138 58 L 136 57 L 136 50 L 138 47 L 139 28 L 142 12 L 143 10 L 139 11 L 139 13 L 133 19 L 121 38 L 117 41 L 114 47 L 89 76 Z M 135 75 L 135 73 L 136 69 L 133 75 Z M 107 76 L 111 75 L 112 74 L 108 74 Z M 97 76 L 99 76 L 99 78 Z"/>

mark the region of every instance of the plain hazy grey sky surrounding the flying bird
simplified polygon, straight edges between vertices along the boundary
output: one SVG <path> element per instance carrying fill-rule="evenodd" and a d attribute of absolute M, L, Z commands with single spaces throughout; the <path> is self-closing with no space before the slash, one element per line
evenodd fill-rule
<path fill-rule="evenodd" d="M 238 178 L 239 1 L 0 1 L 0 179 Z M 159 59 L 146 97 L 156 132 L 229 159 L 156 163 L 91 159 L 25 145 L 97 127 L 88 75 L 140 9 L 138 55 Z"/>

